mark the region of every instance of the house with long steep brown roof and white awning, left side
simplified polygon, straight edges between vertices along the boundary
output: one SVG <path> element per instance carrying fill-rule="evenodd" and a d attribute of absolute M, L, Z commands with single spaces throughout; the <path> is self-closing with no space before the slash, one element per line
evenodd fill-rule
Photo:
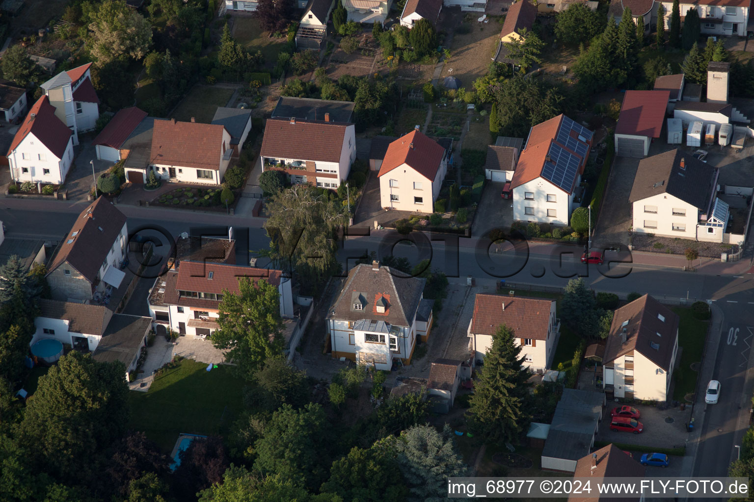
<path fill-rule="evenodd" d="M 100 197 L 73 223 L 48 266 L 54 300 L 91 300 L 108 287 L 117 289 L 125 277 L 126 217 Z"/>

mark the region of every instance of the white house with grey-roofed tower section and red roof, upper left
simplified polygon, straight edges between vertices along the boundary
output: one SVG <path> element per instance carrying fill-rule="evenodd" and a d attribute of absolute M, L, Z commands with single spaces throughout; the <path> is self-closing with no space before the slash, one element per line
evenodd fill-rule
<path fill-rule="evenodd" d="M 92 63 L 61 71 L 39 87 L 55 107 L 55 114 L 73 131 L 73 144 L 78 133 L 94 129 L 100 117 L 100 99 L 91 81 Z"/>

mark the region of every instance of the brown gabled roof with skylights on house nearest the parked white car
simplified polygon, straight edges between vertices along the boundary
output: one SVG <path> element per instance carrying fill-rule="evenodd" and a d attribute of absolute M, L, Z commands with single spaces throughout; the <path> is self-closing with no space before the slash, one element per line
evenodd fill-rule
<path fill-rule="evenodd" d="M 661 321 L 658 315 L 665 320 Z M 623 324 L 626 324 L 626 342 L 622 341 Z M 676 345 L 679 317 L 666 306 L 645 294 L 615 311 L 610 334 L 605 345 L 603 364 L 615 361 L 630 351 L 639 351 L 663 370 L 670 370 L 670 358 Z M 659 334 L 657 334 L 659 333 Z M 657 347 L 657 348 L 655 348 Z"/>

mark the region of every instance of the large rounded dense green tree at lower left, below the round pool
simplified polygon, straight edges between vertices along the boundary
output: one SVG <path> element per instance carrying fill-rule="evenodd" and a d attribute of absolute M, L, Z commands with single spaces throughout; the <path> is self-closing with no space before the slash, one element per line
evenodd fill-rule
<path fill-rule="evenodd" d="M 38 469 L 60 479 L 90 474 L 91 459 L 123 435 L 128 387 L 123 364 L 98 363 L 77 351 L 39 379 L 19 427 Z"/>

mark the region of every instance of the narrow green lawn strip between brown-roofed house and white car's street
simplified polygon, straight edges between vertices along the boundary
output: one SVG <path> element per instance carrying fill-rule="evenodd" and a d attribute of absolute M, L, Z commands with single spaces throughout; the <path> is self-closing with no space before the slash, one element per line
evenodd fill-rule
<path fill-rule="evenodd" d="M 673 376 L 676 379 L 673 399 L 683 403 L 684 396 L 696 389 L 699 373 L 691 370 L 691 364 L 702 360 L 706 331 L 710 322 L 695 319 L 688 307 L 673 307 L 672 310 L 681 318 L 678 327 L 678 345 L 683 347 L 681 362 Z"/>

